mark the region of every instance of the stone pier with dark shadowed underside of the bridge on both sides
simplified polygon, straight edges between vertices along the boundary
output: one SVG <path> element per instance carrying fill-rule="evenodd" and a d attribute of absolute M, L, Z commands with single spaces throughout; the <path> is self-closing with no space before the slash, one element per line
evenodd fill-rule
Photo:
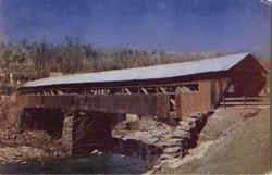
<path fill-rule="evenodd" d="M 124 114 L 28 108 L 20 114 L 20 129 L 46 130 L 53 140 L 61 139 L 67 154 L 84 154 L 111 150 L 112 129 L 122 120 Z"/>

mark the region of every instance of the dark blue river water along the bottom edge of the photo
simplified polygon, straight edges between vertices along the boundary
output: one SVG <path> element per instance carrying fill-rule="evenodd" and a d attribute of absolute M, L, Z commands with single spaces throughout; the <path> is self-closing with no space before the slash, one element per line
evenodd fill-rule
<path fill-rule="evenodd" d="M 46 162 L 0 165 L 1 174 L 143 174 L 145 161 L 122 154 L 65 158 Z"/>

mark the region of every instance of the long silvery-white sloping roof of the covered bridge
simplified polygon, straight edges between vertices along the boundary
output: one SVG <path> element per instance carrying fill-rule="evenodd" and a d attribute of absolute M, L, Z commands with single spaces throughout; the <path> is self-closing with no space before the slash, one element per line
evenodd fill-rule
<path fill-rule="evenodd" d="M 39 87 L 51 85 L 69 85 L 85 83 L 149 80 L 158 78 L 181 77 L 186 75 L 228 71 L 250 53 L 237 53 L 213 59 L 163 64 L 156 66 L 115 70 L 86 74 L 74 74 L 50 77 L 26 83 L 23 87 Z"/>

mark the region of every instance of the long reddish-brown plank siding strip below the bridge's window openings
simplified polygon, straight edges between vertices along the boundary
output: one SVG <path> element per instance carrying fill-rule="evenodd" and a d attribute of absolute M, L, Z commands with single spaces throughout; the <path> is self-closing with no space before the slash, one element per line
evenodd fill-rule
<path fill-rule="evenodd" d="M 18 96 L 21 108 L 81 109 L 106 113 L 133 113 L 168 117 L 168 95 Z"/>

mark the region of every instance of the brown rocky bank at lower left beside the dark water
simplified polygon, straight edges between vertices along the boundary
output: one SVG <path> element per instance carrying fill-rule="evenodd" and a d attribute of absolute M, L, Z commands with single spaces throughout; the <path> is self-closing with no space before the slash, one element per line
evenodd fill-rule
<path fill-rule="evenodd" d="M 25 164 L 28 161 L 44 161 L 64 158 L 61 145 L 44 132 L 18 133 L 0 129 L 0 164 Z"/>

